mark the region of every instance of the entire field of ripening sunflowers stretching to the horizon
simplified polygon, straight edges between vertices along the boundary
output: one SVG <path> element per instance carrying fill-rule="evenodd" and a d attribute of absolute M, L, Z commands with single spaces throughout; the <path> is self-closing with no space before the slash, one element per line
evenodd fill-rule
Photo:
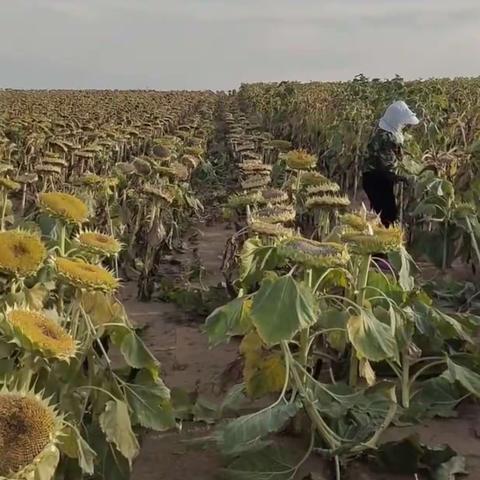
<path fill-rule="evenodd" d="M 358 180 L 399 98 L 422 125 L 386 229 Z M 480 396 L 479 162 L 478 79 L 0 91 L 0 479 L 127 479 L 149 431 L 181 430 L 122 291 L 157 301 L 200 217 L 231 230 L 202 331 L 238 346 L 241 375 L 189 407 L 221 478 L 317 478 L 314 456 L 325 479 L 359 460 L 466 473 L 449 447 L 384 435 Z"/>

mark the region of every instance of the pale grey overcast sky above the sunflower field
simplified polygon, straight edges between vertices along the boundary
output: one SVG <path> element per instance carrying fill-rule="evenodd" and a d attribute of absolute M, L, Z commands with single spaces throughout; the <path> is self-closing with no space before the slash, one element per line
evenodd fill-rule
<path fill-rule="evenodd" d="M 0 0 L 0 87 L 480 75 L 480 0 Z"/>

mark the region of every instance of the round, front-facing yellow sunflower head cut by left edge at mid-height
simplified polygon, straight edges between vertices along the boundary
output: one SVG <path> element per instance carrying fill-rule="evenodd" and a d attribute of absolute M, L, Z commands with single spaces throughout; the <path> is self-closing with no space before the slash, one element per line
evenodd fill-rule
<path fill-rule="evenodd" d="M 47 251 L 40 237 L 22 230 L 0 232 L 0 271 L 17 277 L 37 273 Z"/>

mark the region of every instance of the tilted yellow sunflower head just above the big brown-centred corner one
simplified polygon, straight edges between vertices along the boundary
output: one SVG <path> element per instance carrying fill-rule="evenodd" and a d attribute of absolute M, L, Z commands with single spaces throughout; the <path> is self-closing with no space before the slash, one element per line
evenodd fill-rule
<path fill-rule="evenodd" d="M 58 323 L 41 312 L 12 309 L 6 314 L 12 336 L 26 350 L 40 352 L 45 358 L 69 360 L 75 356 L 73 337 Z"/>

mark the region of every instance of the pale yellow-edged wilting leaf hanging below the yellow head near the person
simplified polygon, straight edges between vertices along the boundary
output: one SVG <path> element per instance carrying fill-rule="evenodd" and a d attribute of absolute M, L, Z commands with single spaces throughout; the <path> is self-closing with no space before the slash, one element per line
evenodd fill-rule
<path fill-rule="evenodd" d="M 397 358 L 398 351 L 390 327 L 377 320 L 373 313 L 362 311 L 350 317 L 348 337 L 360 356 L 379 362 Z"/>

